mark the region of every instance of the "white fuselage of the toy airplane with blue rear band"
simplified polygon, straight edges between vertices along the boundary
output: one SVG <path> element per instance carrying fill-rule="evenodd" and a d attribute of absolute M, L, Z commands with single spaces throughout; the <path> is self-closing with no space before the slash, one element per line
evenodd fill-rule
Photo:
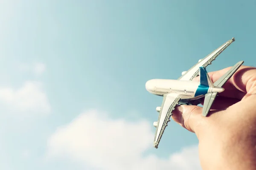
<path fill-rule="evenodd" d="M 148 92 L 155 95 L 163 96 L 165 94 L 180 94 L 181 99 L 193 99 L 195 97 L 203 97 L 209 92 L 222 92 L 224 88 L 219 87 L 203 87 L 200 88 L 200 82 L 184 81 L 175 79 L 151 79 L 145 84 Z"/>

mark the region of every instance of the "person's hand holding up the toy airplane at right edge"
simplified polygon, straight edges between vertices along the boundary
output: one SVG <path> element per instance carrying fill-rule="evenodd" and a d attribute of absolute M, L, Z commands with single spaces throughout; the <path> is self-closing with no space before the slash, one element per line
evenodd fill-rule
<path fill-rule="evenodd" d="M 215 82 L 230 68 L 209 77 Z M 223 88 L 209 116 L 202 116 L 199 106 L 180 105 L 172 119 L 198 137 L 203 170 L 255 170 L 256 68 L 241 66 Z"/>

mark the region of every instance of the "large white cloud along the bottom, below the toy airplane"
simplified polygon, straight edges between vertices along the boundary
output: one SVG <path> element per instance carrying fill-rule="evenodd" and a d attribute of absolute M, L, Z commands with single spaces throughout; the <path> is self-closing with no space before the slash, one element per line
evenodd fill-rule
<path fill-rule="evenodd" d="M 197 146 L 183 148 L 168 159 L 143 156 L 153 137 L 149 122 L 110 119 L 105 113 L 88 111 L 52 134 L 48 156 L 64 156 L 103 170 L 201 169 Z"/>

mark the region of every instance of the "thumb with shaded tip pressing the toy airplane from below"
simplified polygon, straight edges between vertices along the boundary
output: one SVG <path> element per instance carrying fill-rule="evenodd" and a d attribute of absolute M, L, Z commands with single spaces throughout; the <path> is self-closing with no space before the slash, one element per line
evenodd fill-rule
<path fill-rule="evenodd" d="M 172 119 L 187 130 L 196 133 L 201 120 L 203 108 L 195 105 L 179 105 L 172 112 Z"/>

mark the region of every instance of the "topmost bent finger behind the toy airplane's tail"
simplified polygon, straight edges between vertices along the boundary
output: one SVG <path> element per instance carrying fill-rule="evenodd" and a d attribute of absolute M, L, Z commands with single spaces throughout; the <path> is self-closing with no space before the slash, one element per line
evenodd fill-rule
<path fill-rule="evenodd" d="M 219 71 L 210 72 L 208 75 L 212 82 L 216 82 L 221 76 L 223 76 L 229 68 L 224 68 Z M 242 65 L 235 74 L 223 85 L 225 91 L 219 93 L 219 96 L 231 97 L 236 99 L 242 99 L 244 95 L 255 86 L 256 80 L 256 68 Z M 199 77 L 195 78 L 195 81 L 199 81 Z"/>

